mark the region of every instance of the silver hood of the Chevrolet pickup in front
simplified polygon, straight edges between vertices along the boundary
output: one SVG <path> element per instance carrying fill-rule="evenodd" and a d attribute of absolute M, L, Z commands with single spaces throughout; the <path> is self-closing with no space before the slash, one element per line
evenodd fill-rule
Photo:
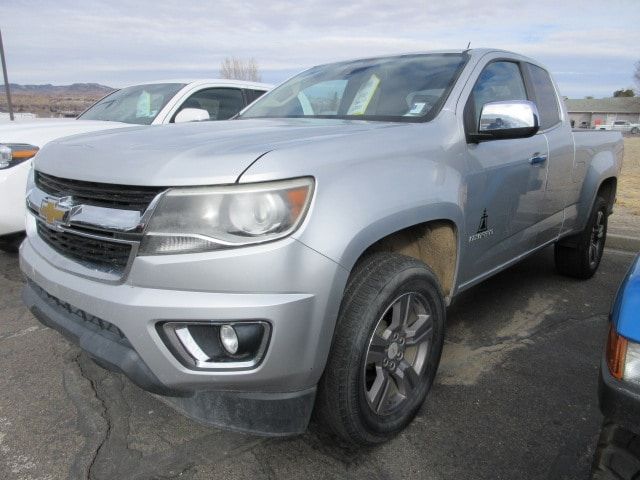
<path fill-rule="evenodd" d="M 234 183 L 272 150 L 335 141 L 398 124 L 321 119 L 251 119 L 132 127 L 49 143 L 36 169 L 77 180 L 123 185 Z"/>

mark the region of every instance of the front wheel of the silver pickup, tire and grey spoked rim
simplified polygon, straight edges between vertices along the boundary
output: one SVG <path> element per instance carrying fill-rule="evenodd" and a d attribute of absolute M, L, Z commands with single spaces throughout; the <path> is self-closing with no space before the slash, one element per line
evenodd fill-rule
<path fill-rule="evenodd" d="M 361 261 L 347 283 L 320 380 L 318 423 L 357 445 L 400 432 L 431 388 L 444 325 L 443 295 L 425 264 L 396 253 Z"/>

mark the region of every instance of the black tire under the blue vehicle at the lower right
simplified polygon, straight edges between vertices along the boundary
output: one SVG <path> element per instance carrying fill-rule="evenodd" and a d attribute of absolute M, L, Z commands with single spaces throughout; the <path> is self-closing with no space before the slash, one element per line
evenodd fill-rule
<path fill-rule="evenodd" d="M 591 478 L 593 480 L 640 478 L 640 437 L 605 420 L 593 457 Z"/>

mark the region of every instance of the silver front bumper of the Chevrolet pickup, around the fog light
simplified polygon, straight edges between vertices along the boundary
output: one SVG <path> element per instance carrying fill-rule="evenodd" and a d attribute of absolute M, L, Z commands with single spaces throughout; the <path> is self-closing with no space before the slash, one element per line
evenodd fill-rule
<path fill-rule="evenodd" d="M 23 243 L 25 302 L 98 363 L 170 396 L 174 406 L 206 423 L 295 433 L 300 424 L 285 422 L 278 412 L 285 418 L 299 412 L 306 427 L 348 276 L 337 263 L 285 239 L 233 251 L 137 257 L 124 283 L 114 285 L 63 271 L 54 266 L 57 257 L 37 238 Z M 126 341 L 107 338 L 95 322 L 78 322 L 74 312 L 104 321 L 107 330 L 115 327 Z M 158 334 L 157 322 L 167 320 L 264 320 L 271 338 L 253 369 L 194 370 Z M 245 408 L 238 408 L 238 399 Z M 270 412 L 280 426 L 260 423 L 260 412 Z"/>

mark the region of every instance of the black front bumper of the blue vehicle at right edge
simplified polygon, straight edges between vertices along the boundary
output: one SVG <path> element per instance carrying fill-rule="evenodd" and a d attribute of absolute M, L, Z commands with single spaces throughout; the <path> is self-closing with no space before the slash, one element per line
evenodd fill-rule
<path fill-rule="evenodd" d="M 600 363 L 598 399 L 606 418 L 640 434 L 640 387 L 614 378 L 604 357 Z"/>

